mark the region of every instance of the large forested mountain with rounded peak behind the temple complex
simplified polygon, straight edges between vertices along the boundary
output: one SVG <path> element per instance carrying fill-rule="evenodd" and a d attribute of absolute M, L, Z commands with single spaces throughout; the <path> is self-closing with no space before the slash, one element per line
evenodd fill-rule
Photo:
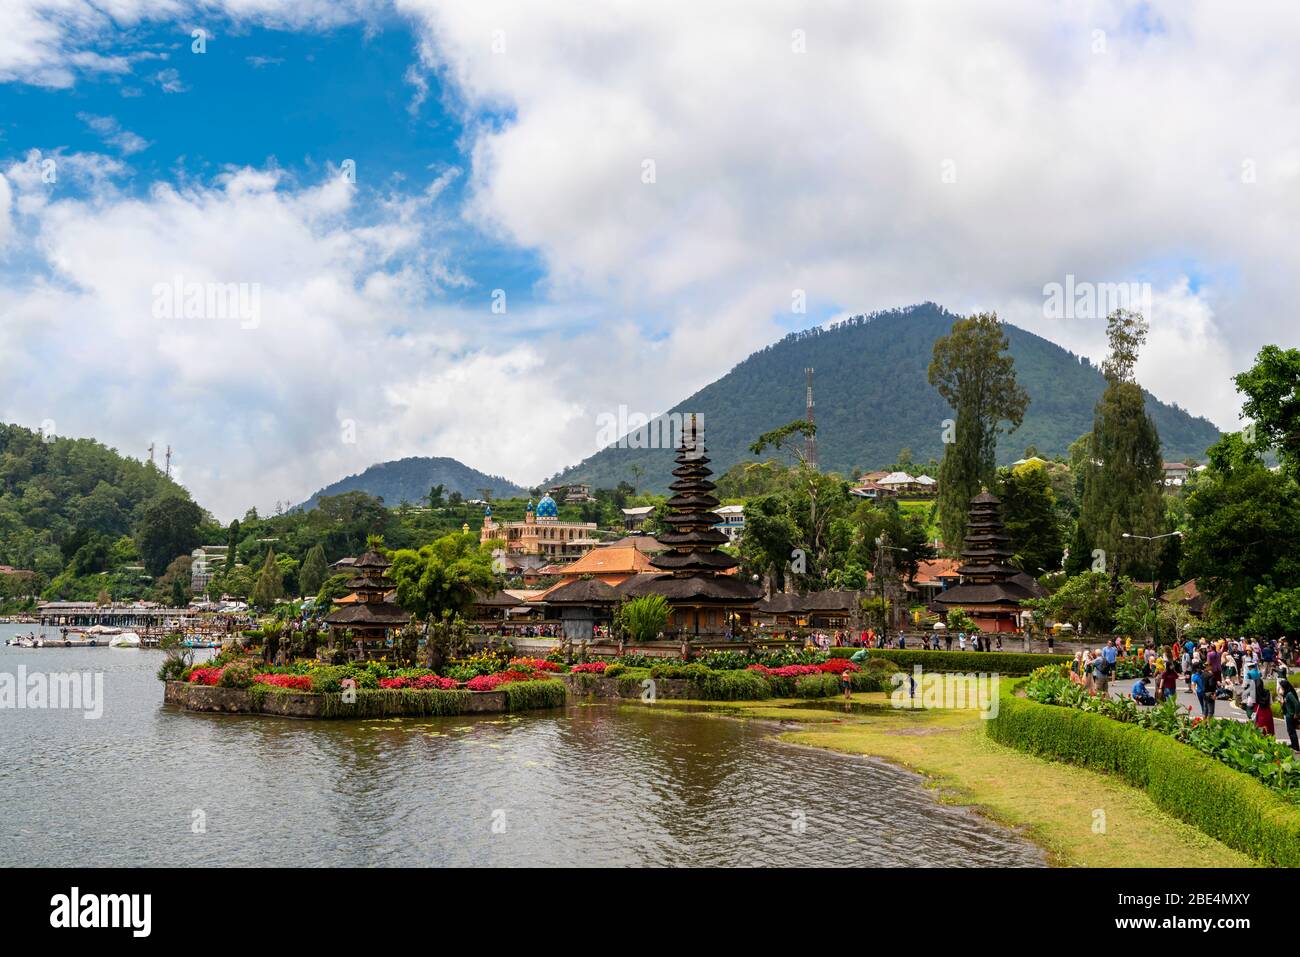
<path fill-rule="evenodd" d="M 910 449 L 914 462 L 941 459 L 941 423 L 952 417 L 930 385 L 935 339 L 957 319 L 924 303 L 858 316 L 829 329 L 792 333 L 754 352 L 716 382 L 668 412 L 703 413 L 711 468 L 722 473 L 751 460 L 750 443 L 762 433 L 803 417 L 805 368 L 814 368 L 818 454 L 823 471 L 849 475 L 894 462 Z M 1026 446 L 1041 455 L 1063 455 L 1092 430 L 1092 412 L 1105 378 L 1086 358 L 1008 325 L 1015 374 L 1030 394 L 1024 423 L 1001 436 L 997 456 L 1005 464 Z M 1219 436 L 1213 423 L 1147 393 L 1167 460 L 1204 458 Z M 641 469 L 640 477 L 636 471 Z M 612 488 L 627 480 L 642 490 L 662 492 L 671 481 L 672 451 L 610 446 L 547 480 Z"/>

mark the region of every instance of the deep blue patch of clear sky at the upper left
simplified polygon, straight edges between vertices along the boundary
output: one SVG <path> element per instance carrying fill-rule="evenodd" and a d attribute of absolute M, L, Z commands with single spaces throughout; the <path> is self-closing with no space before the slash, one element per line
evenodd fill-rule
<path fill-rule="evenodd" d="M 129 75 L 92 73 L 72 90 L 0 85 L 0 153 L 39 146 L 43 155 L 117 156 L 127 170 L 116 186 L 142 196 L 157 182 L 209 182 L 238 166 L 274 166 L 309 183 L 351 160 L 359 221 L 386 194 L 420 191 L 447 170 L 459 174 L 442 205 L 463 200 L 464 124 L 436 75 L 420 72 L 422 90 L 410 82 L 419 60 L 410 21 L 386 16 L 320 33 L 203 22 L 203 53 L 188 23 L 143 25 L 100 44 L 147 57 Z M 484 112 L 474 122 L 508 117 Z M 66 194 L 86 195 L 87 186 L 72 179 Z M 495 287 L 519 304 L 533 300 L 543 276 L 536 252 L 469 228 L 455 252 L 471 285 L 443 290 L 445 300 L 482 299 Z"/>

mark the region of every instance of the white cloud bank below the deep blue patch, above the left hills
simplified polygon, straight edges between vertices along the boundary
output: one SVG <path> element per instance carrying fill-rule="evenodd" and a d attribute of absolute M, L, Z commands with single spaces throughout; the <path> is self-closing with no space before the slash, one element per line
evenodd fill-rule
<path fill-rule="evenodd" d="M 36 163 L 5 170 L 20 200 L 42 190 Z M 526 343 L 499 345 L 486 302 L 428 306 L 439 277 L 463 280 L 426 200 L 376 204 L 364 226 L 355 204 L 339 177 L 298 186 L 265 169 L 144 198 L 42 194 L 26 239 L 52 276 L 0 285 L 0 380 L 25 384 L 5 417 L 53 419 L 136 456 L 170 443 L 225 519 L 399 455 L 540 476 L 577 415 L 551 391 L 554 369 Z M 156 317 L 177 277 L 256 283 L 259 321 Z"/>

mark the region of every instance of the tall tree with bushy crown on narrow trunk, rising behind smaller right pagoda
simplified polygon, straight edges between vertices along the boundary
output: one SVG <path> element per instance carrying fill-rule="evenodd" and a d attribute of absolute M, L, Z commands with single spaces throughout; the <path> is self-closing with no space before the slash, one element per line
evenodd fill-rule
<path fill-rule="evenodd" d="M 939 469 L 939 520 L 944 547 L 961 550 L 970 501 L 982 486 L 993 485 L 997 436 L 1004 421 L 1019 428 L 1028 394 L 1015 381 L 1015 361 L 996 313 L 953 322 L 935 342 L 930 384 L 957 415 L 952 441 L 944 446 Z"/>

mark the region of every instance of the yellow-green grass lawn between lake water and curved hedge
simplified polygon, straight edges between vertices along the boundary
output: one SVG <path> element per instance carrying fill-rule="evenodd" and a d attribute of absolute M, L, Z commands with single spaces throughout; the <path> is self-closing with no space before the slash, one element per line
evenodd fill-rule
<path fill-rule="evenodd" d="M 896 711 L 883 693 L 854 694 L 848 713 L 840 705 L 832 698 L 823 707 L 784 700 L 659 701 L 654 707 L 794 722 L 798 727 L 784 731 L 781 740 L 870 754 L 918 771 L 941 800 L 974 805 L 994 820 L 1022 828 L 1056 866 L 1256 866 L 1240 852 L 1169 817 L 1138 788 L 988 740 L 975 711 Z M 1105 833 L 1093 832 L 1096 811 L 1105 815 Z"/>

